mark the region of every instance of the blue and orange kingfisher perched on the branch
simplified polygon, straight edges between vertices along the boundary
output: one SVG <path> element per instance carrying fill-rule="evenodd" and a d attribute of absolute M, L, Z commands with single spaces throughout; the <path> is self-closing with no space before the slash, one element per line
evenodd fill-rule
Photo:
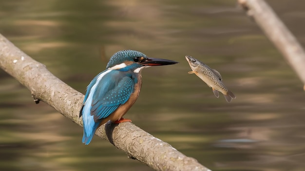
<path fill-rule="evenodd" d="M 141 69 L 151 66 L 172 65 L 178 62 L 147 57 L 144 53 L 124 50 L 114 53 L 106 70 L 95 76 L 87 86 L 79 112 L 84 135 L 82 143 L 88 145 L 96 129 L 107 121 L 131 121 L 122 118 L 139 96 L 142 86 Z"/>

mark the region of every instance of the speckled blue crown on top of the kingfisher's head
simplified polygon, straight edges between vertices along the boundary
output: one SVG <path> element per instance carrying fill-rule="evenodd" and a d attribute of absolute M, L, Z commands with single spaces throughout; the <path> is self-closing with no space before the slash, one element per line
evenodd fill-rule
<path fill-rule="evenodd" d="M 147 57 L 144 53 L 140 51 L 124 50 L 114 53 L 110 58 L 106 69 L 114 67 L 115 65 L 122 64 L 125 61 L 133 61 L 134 57 Z"/>

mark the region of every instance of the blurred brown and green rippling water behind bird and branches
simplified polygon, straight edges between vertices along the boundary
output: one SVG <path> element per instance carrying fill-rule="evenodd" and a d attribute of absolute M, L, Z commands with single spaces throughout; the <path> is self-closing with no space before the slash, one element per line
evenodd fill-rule
<path fill-rule="evenodd" d="M 267 0 L 305 45 L 305 1 Z M 213 171 L 304 171 L 303 85 L 237 0 L 0 0 L 0 33 L 77 91 L 116 51 L 180 62 L 142 72 L 126 118 Z M 185 55 L 217 69 L 227 103 Z M 152 171 L 0 70 L 1 171 Z"/>

